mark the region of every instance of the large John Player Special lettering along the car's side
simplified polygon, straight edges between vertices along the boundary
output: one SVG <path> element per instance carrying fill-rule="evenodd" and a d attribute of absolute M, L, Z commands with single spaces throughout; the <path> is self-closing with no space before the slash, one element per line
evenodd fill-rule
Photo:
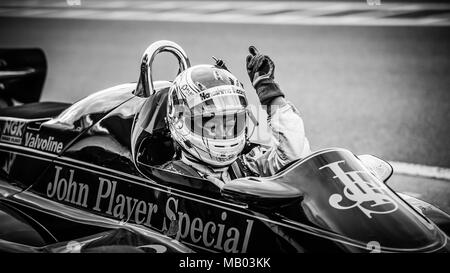
<path fill-rule="evenodd" d="M 120 191 L 120 186 L 123 188 L 123 183 L 127 182 L 102 176 L 97 179 L 98 187 L 91 189 L 77 181 L 74 169 L 55 166 L 55 175 L 47 183 L 46 194 L 49 198 L 110 215 L 121 222 L 132 221 L 156 228 L 176 240 L 200 247 L 229 253 L 247 251 L 254 224 L 252 219 L 232 221 L 233 215 L 221 209 L 212 209 L 208 219 L 204 219 L 198 215 L 201 210 L 186 211 L 182 197 L 157 194 L 155 201 L 149 200 L 151 197 L 142 200 Z"/>

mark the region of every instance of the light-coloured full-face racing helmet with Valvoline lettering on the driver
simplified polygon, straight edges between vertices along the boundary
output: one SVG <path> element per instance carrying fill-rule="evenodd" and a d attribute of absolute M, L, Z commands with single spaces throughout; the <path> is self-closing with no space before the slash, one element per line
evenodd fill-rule
<path fill-rule="evenodd" d="M 225 69 L 196 65 L 169 89 L 167 121 L 172 138 L 191 158 L 212 167 L 233 163 L 246 143 L 247 97 Z"/>

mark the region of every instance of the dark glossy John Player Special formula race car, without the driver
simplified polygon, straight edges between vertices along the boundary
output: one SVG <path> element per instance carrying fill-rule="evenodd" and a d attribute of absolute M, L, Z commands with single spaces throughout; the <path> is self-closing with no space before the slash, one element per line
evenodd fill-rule
<path fill-rule="evenodd" d="M 40 50 L 0 51 L 0 251 L 449 252 L 450 216 L 394 192 L 392 167 L 330 148 L 271 177 L 218 187 L 159 168 L 176 156 L 169 81 L 147 48 L 139 81 L 74 103 L 36 102 Z"/>

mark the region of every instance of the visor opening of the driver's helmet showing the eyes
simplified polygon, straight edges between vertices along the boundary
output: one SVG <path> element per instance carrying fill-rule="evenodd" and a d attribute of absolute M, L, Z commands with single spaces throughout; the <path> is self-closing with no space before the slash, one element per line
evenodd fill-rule
<path fill-rule="evenodd" d="M 209 139 L 233 139 L 245 130 L 246 111 L 226 113 L 204 113 L 186 118 L 192 132 Z"/>

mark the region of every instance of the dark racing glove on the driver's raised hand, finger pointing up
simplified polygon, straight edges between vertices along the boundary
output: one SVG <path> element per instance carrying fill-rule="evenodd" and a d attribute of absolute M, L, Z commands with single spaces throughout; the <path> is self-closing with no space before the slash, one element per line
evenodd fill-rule
<path fill-rule="evenodd" d="M 262 105 L 270 105 L 276 97 L 284 97 L 274 80 L 275 64 L 267 55 L 262 55 L 254 46 L 248 48 L 247 73 Z"/>

